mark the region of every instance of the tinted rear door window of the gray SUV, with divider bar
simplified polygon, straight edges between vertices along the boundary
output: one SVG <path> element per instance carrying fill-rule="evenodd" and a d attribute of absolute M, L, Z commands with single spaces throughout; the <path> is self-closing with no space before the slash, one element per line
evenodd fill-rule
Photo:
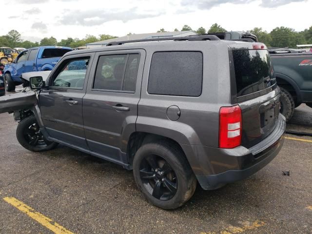
<path fill-rule="evenodd" d="M 93 88 L 135 91 L 138 62 L 138 54 L 100 56 Z"/>

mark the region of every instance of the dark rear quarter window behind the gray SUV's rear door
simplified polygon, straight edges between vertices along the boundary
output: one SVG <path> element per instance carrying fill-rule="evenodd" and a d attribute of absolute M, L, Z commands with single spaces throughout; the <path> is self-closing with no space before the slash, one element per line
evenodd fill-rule
<path fill-rule="evenodd" d="M 201 52 L 153 54 L 147 91 L 149 94 L 198 97 L 201 94 Z"/>

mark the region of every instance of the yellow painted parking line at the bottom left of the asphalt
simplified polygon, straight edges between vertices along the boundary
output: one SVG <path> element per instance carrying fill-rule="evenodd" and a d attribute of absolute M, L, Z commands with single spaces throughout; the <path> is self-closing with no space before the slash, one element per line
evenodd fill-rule
<path fill-rule="evenodd" d="M 29 217 L 35 219 L 37 222 L 39 222 L 47 229 L 50 229 L 55 234 L 74 234 L 71 231 L 67 230 L 66 228 L 60 226 L 58 223 L 54 222 L 52 219 L 44 215 L 41 215 L 39 212 L 36 212 L 33 208 L 27 206 L 26 204 L 16 199 L 15 197 L 6 196 L 3 198 L 3 200 L 11 204 L 12 206 L 16 207 Z"/>

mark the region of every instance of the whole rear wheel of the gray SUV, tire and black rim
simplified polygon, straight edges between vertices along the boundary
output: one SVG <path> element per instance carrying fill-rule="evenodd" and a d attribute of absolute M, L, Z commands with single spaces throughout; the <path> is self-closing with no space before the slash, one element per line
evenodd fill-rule
<path fill-rule="evenodd" d="M 182 206 L 196 189 L 196 177 L 184 153 L 166 141 L 142 145 L 134 158 L 133 174 L 145 198 L 162 209 Z"/>

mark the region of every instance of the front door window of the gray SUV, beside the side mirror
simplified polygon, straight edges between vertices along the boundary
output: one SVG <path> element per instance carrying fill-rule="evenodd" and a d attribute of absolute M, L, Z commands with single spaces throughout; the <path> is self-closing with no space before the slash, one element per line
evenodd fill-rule
<path fill-rule="evenodd" d="M 60 65 L 60 72 L 53 79 L 52 86 L 82 89 L 90 57 L 70 59 Z"/>

